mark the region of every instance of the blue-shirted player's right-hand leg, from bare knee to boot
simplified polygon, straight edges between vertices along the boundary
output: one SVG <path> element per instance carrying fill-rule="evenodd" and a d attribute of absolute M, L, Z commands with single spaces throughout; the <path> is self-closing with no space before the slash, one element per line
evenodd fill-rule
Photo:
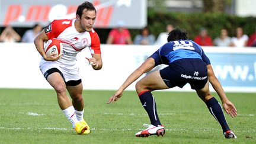
<path fill-rule="evenodd" d="M 215 97 L 213 97 L 210 94 L 209 91 L 209 82 L 206 83 L 204 88 L 202 89 L 196 89 L 197 95 L 201 98 L 201 100 L 206 103 L 210 113 L 215 117 L 215 119 L 219 122 L 220 126 L 222 127 L 223 130 L 223 135 L 227 139 L 235 138 L 236 135 L 229 129 L 228 123 L 225 119 L 223 110 L 219 102 L 216 100 Z"/>

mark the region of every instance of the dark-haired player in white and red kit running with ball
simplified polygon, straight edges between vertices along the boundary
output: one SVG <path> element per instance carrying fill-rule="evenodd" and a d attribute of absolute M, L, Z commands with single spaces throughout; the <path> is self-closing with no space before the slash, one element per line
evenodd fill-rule
<path fill-rule="evenodd" d="M 100 39 L 92 28 L 96 14 L 94 5 L 85 1 L 78 6 L 76 19 L 54 20 L 34 39 L 36 49 L 42 56 L 40 70 L 55 89 L 59 107 L 78 134 L 90 133 L 90 129 L 83 117 L 83 87 L 76 64 L 76 54 L 88 47 L 92 57 L 86 57 L 86 59 L 92 68 L 99 70 L 103 66 Z M 62 55 L 46 55 L 44 52 L 44 41 L 53 38 L 62 41 Z M 66 94 L 66 90 L 68 90 L 72 101 Z"/>

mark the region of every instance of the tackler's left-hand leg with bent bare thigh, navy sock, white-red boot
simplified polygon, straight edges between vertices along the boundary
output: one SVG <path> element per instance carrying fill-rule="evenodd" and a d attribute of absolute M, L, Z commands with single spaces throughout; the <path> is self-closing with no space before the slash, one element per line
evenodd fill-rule
<path fill-rule="evenodd" d="M 165 85 L 164 81 L 159 74 L 159 71 L 155 71 L 149 73 L 144 78 L 142 78 L 136 84 L 136 91 L 139 95 L 140 102 L 148 113 L 149 119 L 151 120 L 151 124 L 144 124 L 148 128 L 137 132 L 135 136 L 137 137 L 148 137 L 151 135 L 161 135 L 164 136 L 165 129 L 162 126 L 158 114 L 156 111 L 156 103 L 151 91 L 156 89 L 167 89 L 167 85 Z"/>

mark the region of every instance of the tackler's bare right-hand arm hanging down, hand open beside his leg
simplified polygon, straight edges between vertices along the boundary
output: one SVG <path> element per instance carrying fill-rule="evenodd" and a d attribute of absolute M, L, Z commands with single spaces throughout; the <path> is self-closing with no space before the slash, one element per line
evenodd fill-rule
<path fill-rule="evenodd" d="M 212 87 L 215 89 L 215 91 L 219 95 L 220 100 L 222 101 L 224 110 L 226 111 L 226 113 L 231 115 L 231 117 L 236 117 L 237 110 L 235 108 L 235 105 L 233 105 L 231 101 L 229 101 L 228 98 L 226 97 L 226 94 L 222 88 L 222 85 L 220 84 L 219 80 L 216 78 L 211 65 L 207 65 L 207 71 L 208 71 L 209 82 L 212 84 Z"/>

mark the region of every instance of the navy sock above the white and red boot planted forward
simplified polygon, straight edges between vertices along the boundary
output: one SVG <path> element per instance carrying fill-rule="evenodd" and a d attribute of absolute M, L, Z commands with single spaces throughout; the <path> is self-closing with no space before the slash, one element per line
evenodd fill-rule
<path fill-rule="evenodd" d="M 149 119 L 151 120 L 151 124 L 154 126 L 162 125 L 160 120 L 158 119 L 158 114 L 156 111 L 156 103 L 153 95 L 150 91 L 143 92 L 143 94 L 139 94 L 140 103 L 142 103 L 146 112 L 148 113 Z"/>

